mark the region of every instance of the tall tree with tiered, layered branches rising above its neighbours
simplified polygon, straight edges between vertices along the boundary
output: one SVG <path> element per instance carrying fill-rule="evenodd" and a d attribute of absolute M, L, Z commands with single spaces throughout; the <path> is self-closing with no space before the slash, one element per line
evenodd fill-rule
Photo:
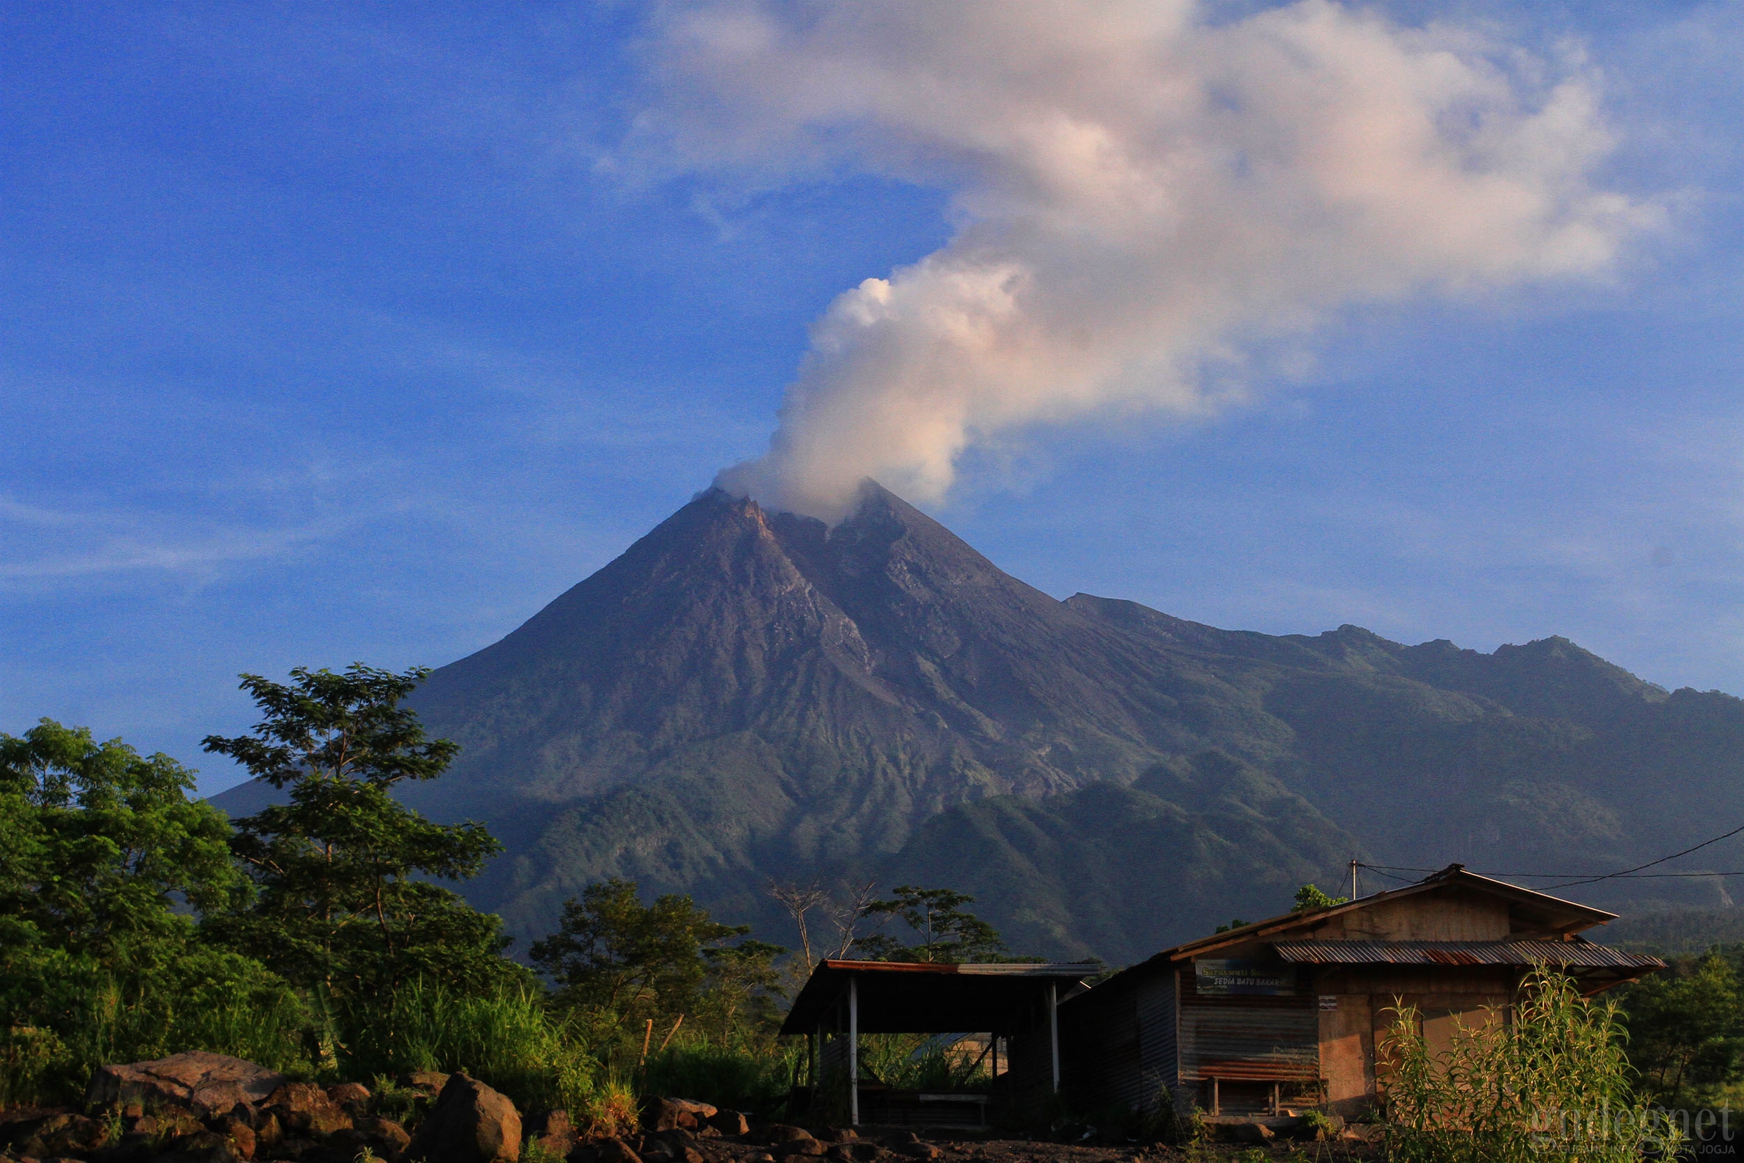
<path fill-rule="evenodd" d="M 392 797 L 401 779 L 438 778 L 459 750 L 427 739 L 401 706 L 427 673 L 354 663 L 344 675 L 296 668 L 290 684 L 242 675 L 262 722 L 204 741 L 290 786 L 290 804 L 235 821 L 232 851 L 258 894 L 208 917 L 209 931 L 342 1004 L 413 978 L 476 989 L 518 973 L 501 956 L 501 919 L 433 882 L 478 875 L 501 844 L 483 825 L 436 825 Z"/>

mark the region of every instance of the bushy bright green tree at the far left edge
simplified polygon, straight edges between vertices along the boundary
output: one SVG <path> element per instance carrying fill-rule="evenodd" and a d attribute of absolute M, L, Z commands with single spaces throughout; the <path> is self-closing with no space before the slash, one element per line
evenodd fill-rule
<path fill-rule="evenodd" d="M 234 908 L 248 879 L 192 788 L 167 755 L 84 727 L 0 734 L 0 1105 L 178 1050 L 298 1065 L 274 1037 L 302 1017 L 284 982 L 197 940 L 190 907 Z"/>

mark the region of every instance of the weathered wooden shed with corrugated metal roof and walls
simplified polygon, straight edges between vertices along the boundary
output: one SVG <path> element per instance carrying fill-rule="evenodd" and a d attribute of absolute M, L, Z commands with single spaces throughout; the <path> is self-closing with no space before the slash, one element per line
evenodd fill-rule
<path fill-rule="evenodd" d="M 1407 888 L 1165 949 L 1060 1004 L 1062 1090 L 1081 1109 L 1214 1116 L 1366 1109 L 1397 1001 L 1430 1044 L 1507 1006 L 1535 964 L 1596 994 L 1666 962 L 1582 931 L 1617 914 L 1448 868 Z"/>

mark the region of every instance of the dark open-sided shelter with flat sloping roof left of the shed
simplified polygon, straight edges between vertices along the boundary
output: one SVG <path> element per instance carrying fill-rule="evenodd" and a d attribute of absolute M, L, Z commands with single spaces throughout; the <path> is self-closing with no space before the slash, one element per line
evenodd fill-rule
<path fill-rule="evenodd" d="M 867 1076 L 860 1037 L 989 1034 L 989 1078 L 998 1079 L 1001 1097 L 1039 1098 L 1060 1086 L 1059 1004 L 1100 969 L 1097 962 L 823 961 L 794 999 L 781 1032 L 806 1037 L 800 1093 L 818 1100 L 827 1086 L 844 1086 L 851 1125 L 980 1123 L 989 1093 L 895 1090 Z M 998 1060 L 1001 1043 L 1008 1048 L 1005 1064 Z"/>

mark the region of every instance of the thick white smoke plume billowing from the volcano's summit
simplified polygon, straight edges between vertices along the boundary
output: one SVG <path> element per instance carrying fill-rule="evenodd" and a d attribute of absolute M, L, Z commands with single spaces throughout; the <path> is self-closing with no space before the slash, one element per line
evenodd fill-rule
<path fill-rule="evenodd" d="M 1584 65 L 1325 0 L 703 0 L 654 59 L 691 164 L 952 190 L 950 244 L 832 303 L 720 476 L 825 518 L 1020 425 L 1214 411 L 1209 366 L 1353 303 L 1603 274 L 1653 220 L 1589 178 Z"/>

